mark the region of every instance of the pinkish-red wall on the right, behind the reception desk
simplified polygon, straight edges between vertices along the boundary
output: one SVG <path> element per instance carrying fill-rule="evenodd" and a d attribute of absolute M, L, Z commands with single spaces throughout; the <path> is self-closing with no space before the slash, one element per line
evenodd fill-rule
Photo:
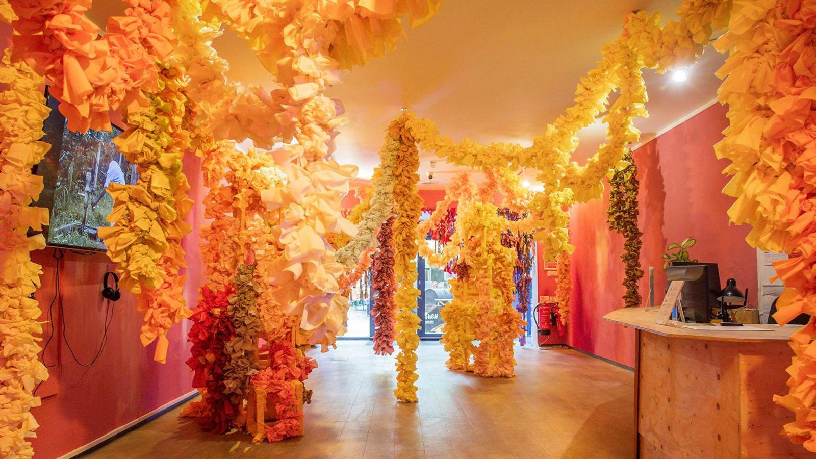
<path fill-rule="evenodd" d="M 655 267 L 655 301 L 666 287 L 663 249 L 693 236 L 692 258 L 717 263 L 721 282 L 733 277 L 756 295 L 756 251 L 745 242 L 747 225 L 730 225 L 726 211 L 733 202 L 721 193 L 728 164 L 717 160 L 712 146 L 728 125 L 725 108 L 713 105 L 634 153 L 641 181 L 639 225 L 644 233 L 641 265 Z M 626 365 L 634 364 L 634 332 L 601 319 L 621 307 L 623 237 L 606 224 L 608 193 L 602 200 L 576 205 L 571 212 L 574 291 L 569 342 L 575 348 Z M 541 279 L 541 278 L 539 278 Z M 540 288 L 540 287 L 539 287 Z M 648 294 L 641 281 L 641 295 Z"/>

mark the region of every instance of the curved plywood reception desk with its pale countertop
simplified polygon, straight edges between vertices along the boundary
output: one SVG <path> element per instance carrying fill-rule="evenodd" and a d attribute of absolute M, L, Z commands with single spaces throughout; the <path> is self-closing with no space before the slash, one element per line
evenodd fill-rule
<path fill-rule="evenodd" d="M 604 319 L 636 330 L 638 457 L 811 457 L 779 435 L 792 413 L 772 401 L 787 393 L 796 327 L 698 331 L 641 308 Z"/>

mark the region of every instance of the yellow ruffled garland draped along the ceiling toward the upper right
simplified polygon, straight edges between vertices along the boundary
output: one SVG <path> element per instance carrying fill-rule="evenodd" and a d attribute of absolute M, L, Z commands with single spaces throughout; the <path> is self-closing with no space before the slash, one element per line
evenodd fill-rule
<path fill-rule="evenodd" d="M 534 195 L 530 220 L 520 229 L 534 230 L 540 252 L 553 260 L 562 251 L 574 250 L 565 230 L 569 207 L 576 201 L 599 198 L 602 180 L 625 166 L 622 159 L 627 146 L 640 138 L 632 122 L 646 116 L 641 69 L 663 73 L 693 65 L 702 55 L 713 29 L 727 23 L 730 8 L 731 2 L 727 0 L 687 0 L 676 11 L 680 20 L 662 27 L 659 14 L 649 16 L 645 11 L 630 14 L 623 33 L 601 49 L 602 60 L 582 78 L 573 106 L 549 124 L 530 147 L 507 143 L 480 145 L 467 138 L 455 142 L 442 136 L 434 123 L 412 114 L 406 124 L 422 149 L 434 152 L 448 163 L 483 171 L 502 167 L 512 171 L 521 167 L 537 170 L 537 179 L 546 191 Z M 616 89 L 620 96 L 610 106 L 610 94 Z M 605 111 L 608 142 L 585 164 L 571 162 L 579 145 L 579 131 L 595 123 Z"/>

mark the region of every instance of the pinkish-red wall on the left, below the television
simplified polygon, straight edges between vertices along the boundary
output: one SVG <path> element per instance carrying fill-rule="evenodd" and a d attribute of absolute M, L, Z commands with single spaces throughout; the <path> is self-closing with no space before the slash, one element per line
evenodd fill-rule
<path fill-rule="evenodd" d="M 193 185 L 191 198 L 201 202 L 206 189 L 199 185 L 199 160 L 189 157 L 184 160 L 185 172 Z M 188 222 L 197 227 L 201 221 L 202 208 L 196 206 L 188 215 Z M 184 249 L 189 265 L 186 296 L 192 306 L 200 286 L 198 279 L 202 279 L 196 233 L 184 239 Z M 43 265 L 44 271 L 42 288 L 37 292 L 42 320 L 48 319 L 48 306 L 54 297 L 52 252 L 47 248 L 33 254 L 33 260 Z M 60 275 L 65 336 L 79 361 L 89 363 L 99 349 L 104 328 L 102 276 L 113 269 L 113 264 L 104 253 L 67 252 L 63 268 Z M 189 323 L 184 321 L 171 329 L 167 363 L 161 364 L 153 361 L 153 345 L 145 349 L 139 341 L 143 314 L 136 311 L 133 297 L 122 292 L 122 300 L 113 308 L 107 345 L 91 368 L 82 368 L 74 362 L 57 333 L 51 340 L 46 356 L 51 381 L 43 383 L 38 393 L 56 393 L 43 399 L 40 408 L 33 409 L 40 424 L 38 438 L 32 441 L 37 457 L 59 457 L 73 451 L 193 390 L 192 375 L 184 364 L 189 356 Z M 61 323 L 57 305 L 53 310 L 55 319 Z M 44 339 L 49 333 L 46 327 Z"/>

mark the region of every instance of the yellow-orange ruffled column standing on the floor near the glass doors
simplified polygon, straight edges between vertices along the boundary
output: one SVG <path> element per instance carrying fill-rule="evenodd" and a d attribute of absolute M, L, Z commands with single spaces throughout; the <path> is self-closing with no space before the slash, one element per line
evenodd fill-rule
<path fill-rule="evenodd" d="M 506 169 L 490 171 L 477 188 L 467 174 L 459 174 L 430 219 L 419 226 L 423 231 L 435 225 L 448 206 L 458 200 L 450 243 L 440 253 L 428 247 L 419 250 L 429 264 L 450 267 L 456 275 L 449 280 L 454 297 L 441 310 L 445 321 L 441 342 L 449 354 L 448 368 L 472 371 L 482 377 L 515 376 L 513 340 L 521 335 L 526 323 L 512 307 L 513 292 L 523 304 L 526 288 L 529 301 L 533 238 L 512 225 L 525 221 L 526 216 L 508 207 L 499 211 L 492 201 L 497 189 L 503 192 L 506 205 L 515 207 L 528 201 L 529 192 L 518 181 L 518 176 Z M 519 253 L 524 261 L 519 261 Z M 514 285 L 520 271 L 521 282 Z M 479 344 L 473 345 L 473 341 Z"/>

